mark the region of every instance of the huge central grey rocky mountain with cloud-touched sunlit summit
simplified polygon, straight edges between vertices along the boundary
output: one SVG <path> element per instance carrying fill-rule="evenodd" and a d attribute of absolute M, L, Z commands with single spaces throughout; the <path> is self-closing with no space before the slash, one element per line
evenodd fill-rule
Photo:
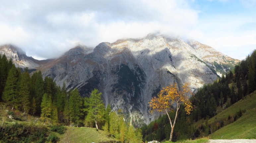
<path fill-rule="evenodd" d="M 136 125 L 149 123 L 158 116 L 149 114 L 148 102 L 162 87 L 189 82 L 195 91 L 238 62 L 196 41 L 186 43 L 180 38 L 148 35 L 100 43 L 94 49 L 79 45 L 57 59 L 34 62 L 34 68 L 58 85 L 65 82 L 68 89 L 78 88 L 82 96 L 99 89 L 105 105 L 122 109 Z"/>

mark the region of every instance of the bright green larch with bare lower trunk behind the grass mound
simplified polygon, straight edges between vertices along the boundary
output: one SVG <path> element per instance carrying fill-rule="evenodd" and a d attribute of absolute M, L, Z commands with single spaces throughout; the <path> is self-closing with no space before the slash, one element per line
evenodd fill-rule
<path fill-rule="evenodd" d="M 87 122 L 95 122 L 96 129 L 98 129 L 98 122 L 103 120 L 105 107 L 103 101 L 100 98 L 101 93 L 97 89 L 94 89 L 89 98 L 88 115 L 86 117 Z"/>

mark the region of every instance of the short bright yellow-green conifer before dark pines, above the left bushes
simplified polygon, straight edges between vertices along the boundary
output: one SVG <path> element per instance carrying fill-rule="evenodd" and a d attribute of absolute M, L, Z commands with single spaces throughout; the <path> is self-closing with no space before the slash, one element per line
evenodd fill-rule
<path fill-rule="evenodd" d="M 44 125 L 46 124 L 46 120 L 51 115 L 51 98 L 45 93 L 41 102 L 41 118 L 44 120 Z"/>

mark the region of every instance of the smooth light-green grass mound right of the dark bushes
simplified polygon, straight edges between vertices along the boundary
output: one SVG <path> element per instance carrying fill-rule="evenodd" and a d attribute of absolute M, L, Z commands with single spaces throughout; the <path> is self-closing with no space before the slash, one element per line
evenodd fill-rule
<path fill-rule="evenodd" d="M 67 131 L 63 135 L 59 135 L 60 142 L 74 142 L 74 143 L 91 143 L 115 140 L 111 137 L 106 137 L 102 130 L 96 131 L 95 128 L 86 127 L 66 127 Z"/>

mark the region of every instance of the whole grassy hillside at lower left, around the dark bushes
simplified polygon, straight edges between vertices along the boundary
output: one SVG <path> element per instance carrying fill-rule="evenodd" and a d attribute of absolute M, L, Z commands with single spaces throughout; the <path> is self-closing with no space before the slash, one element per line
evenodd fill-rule
<path fill-rule="evenodd" d="M 31 128 L 33 129 L 39 129 L 37 131 L 40 131 L 40 129 L 45 130 L 45 136 L 43 137 L 44 141 L 48 142 L 48 135 L 51 133 L 54 133 L 56 136 L 60 138 L 59 142 L 64 143 L 64 142 L 72 142 L 72 143 L 91 143 L 91 142 L 102 142 L 102 141 L 114 141 L 114 138 L 111 137 L 106 137 L 106 134 L 102 130 L 96 131 L 95 128 L 86 128 L 86 127 L 66 127 L 67 129 L 64 134 L 59 134 L 57 132 L 51 131 L 51 124 L 47 124 L 47 126 L 43 126 L 43 121 L 40 120 L 40 117 L 37 116 L 31 116 L 31 115 L 23 115 L 23 112 L 20 112 L 18 110 L 13 111 L 14 116 L 18 118 L 19 120 L 15 119 L 9 119 L 8 118 L 8 111 L 13 111 L 11 110 L 10 106 L 6 106 L 6 103 L 0 102 L 0 127 L 6 127 L 6 126 L 12 126 L 16 123 L 26 125 L 26 128 L 30 129 L 29 127 L 34 127 Z M 27 127 L 28 126 L 28 127 Z M 17 127 L 18 128 L 18 127 Z M 25 127 L 22 127 L 25 128 Z M 21 129 L 21 128 L 18 128 Z M 24 129 L 21 129 L 24 130 Z M 33 130 L 35 131 L 35 130 Z M 19 132 L 23 133 L 23 132 Z M 27 134 L 19 134 L 16 135 L 15 137 L 18 137 L 17 140 L 21 140 L 21 137 L 26 138 Z M 28 136 L 28 135 L 27 135 Z M 0 138 L 1 138 L 1 131 L 0 131 Z M 0 139 L 0 143 L 5 142 Z"/>

